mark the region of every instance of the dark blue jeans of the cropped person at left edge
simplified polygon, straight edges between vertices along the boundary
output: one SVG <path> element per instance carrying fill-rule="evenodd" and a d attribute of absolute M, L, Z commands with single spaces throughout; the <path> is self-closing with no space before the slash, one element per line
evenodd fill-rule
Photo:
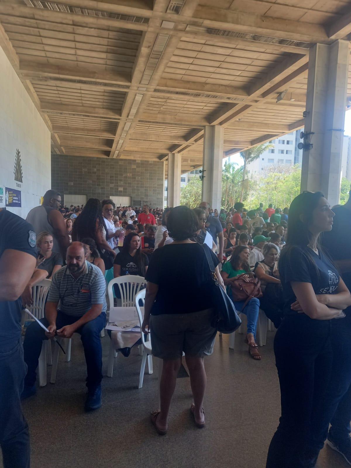
<path fill-rule="evenodd" d="M 28 425 L 23 417 L 21 393 L 27 366 L 21 339 L 0 344 L 0 446 L 4 468 L 29 468 Z"/>

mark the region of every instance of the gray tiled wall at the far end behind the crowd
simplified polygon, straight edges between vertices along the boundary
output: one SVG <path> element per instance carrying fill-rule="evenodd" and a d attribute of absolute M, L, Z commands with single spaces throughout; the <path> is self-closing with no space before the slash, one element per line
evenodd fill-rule
<path fill-rule="evenodd" d="M 161 161 L 51 154 L 51 188 L 61 195 L 87 195 L 100 200 L 132 197 L 132 202 L 163 206 L 163 166 Z"/>

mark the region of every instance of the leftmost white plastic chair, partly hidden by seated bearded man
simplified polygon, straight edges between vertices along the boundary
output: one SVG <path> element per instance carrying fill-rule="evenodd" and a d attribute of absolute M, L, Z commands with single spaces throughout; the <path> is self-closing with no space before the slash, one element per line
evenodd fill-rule
<path fill-rule="evenodd" d="M 37 285 L 33 287 L 33 305 L 28 307 L 28 310 L 38 320 L 45 317 L 45 302 L 49 293 L 51 285 L 51 279 L 43 279 Z M 24 315 L 23 322 L 26 320 Z M 30 318 L 30 315 L 29 315 Z M 38 364 L 38 379 L 39 387 L 45 387 L 46 385 L 46 363 L 52 366 L 52 355 L 51 355 L 51 340 L 43 341 L 42 351 L 39 356 Z"/>

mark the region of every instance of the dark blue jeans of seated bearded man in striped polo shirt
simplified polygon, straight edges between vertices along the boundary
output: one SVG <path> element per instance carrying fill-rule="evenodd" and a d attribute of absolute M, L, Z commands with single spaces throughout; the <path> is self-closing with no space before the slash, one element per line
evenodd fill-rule
<path fill-rule="evenodd" d="M 56 319 L 56 328 L 60 329 L 65 325 L 71 325 L 77 322 L 79 317 L 63 314 L 58 310 Z M 48 321 L 44 318 L 41 319 L 45 327 L 48 326 Z M 87 363 L 87 387 L 95 388 L 101 384 L 102 380 L 102 348 L 100 340 L 100 332 L 106 324 L 106 314 L 102 312 L 98 317 L 90 322 L 85 323 L 82 327 L 77 329 L 80 333 L 80 339 L 84 348 L 85 361 Z M 47 340 L 45 331 L 40 327 L 37 322 L 29 325 L 24 336 L 24 361 L 28 366 L 28 372 L 24 379 L 25 385 L 31 387 L 36 381 L 36 370 L 38 360 L 42 349 L 43 340 Z M 53 342 L 54 346 L 57 346 Z"/>

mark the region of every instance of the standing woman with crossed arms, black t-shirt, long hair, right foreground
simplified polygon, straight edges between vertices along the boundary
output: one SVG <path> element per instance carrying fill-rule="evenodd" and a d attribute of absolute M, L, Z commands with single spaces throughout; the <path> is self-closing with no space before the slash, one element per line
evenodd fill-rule
<path fill-rule="evenodd" d="M 319 245 L 320 233 L 332 229 L 333 216 L 321 192 L 303 192 L 290 205 L 287 243 L 279 258 L 284 319 L 274 339 L 282 416 L 266 468 L 314 466 L 313 421 L 332 365 L 330 321 L 343 320 L 343 309 L 351 305 L 350 292 Z"/>

